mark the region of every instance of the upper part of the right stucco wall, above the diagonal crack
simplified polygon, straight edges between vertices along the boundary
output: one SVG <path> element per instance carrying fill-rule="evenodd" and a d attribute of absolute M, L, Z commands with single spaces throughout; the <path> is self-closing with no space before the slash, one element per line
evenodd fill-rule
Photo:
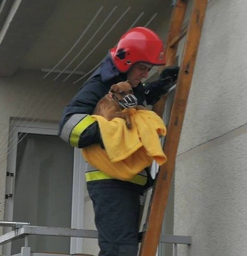
<path fill-rule="evenodd" d="M 247 122 L 246 10 L 244 0 L 208 3 L 179 153 Z"/>

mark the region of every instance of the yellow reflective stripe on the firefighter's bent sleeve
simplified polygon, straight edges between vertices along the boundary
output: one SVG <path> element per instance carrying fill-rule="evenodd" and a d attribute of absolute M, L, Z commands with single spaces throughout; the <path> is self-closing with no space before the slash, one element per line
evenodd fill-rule
<path fill-rule="evenodd" d="M 90 125 L 93 124 L 95 120 L 91 118 L 90 115 L 84 117 L 72 130 L 69 137 L 69 144 L 73 147 L 78 147 L 79 139 L 81 133 Z"/>

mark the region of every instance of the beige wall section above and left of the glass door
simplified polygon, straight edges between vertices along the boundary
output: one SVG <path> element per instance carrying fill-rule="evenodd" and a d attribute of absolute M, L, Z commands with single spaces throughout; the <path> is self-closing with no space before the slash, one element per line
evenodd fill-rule
<path fill-rule="evenodd" d="M 63 83 L 62 78 L 53 82 L 52 75 L 46 79 L 43 76 L 39 71 L 18 71 L 11 78 L 0 78 L 0 220 L 5 202 L 10 118 L 59 122 L 64 107 L 78 91 L 78 86 Z"/>

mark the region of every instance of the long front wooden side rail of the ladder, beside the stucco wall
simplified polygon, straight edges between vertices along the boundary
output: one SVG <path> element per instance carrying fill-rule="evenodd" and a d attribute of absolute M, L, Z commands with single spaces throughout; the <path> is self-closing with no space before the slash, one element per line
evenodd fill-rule
<path fill-rule="evenodd" d="M 193 5 L 188 34 L 184 44 L 176 94 L 164 144 L 164 152 L 168 160 L 166 164 L 163 164 L 160 167 L 157 176 L 149 219 L 147 221 L 147 231 L 145 232 L 142 241 L 140 256 L 154 256 L 159 243 L 162 220 L 171 186 L 179 138 L 195 68 L 207 2 L 207 0 L 195 0 Z"/>

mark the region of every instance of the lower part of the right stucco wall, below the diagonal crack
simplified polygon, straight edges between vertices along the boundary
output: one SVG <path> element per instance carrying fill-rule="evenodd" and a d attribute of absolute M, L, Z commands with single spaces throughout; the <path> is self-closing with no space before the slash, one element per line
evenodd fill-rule
<path fill-rule="evenodd" d="M 247 253 L 247 126 L 178 157 L 174 234 L 192 236 L 178 255 Z"/>

